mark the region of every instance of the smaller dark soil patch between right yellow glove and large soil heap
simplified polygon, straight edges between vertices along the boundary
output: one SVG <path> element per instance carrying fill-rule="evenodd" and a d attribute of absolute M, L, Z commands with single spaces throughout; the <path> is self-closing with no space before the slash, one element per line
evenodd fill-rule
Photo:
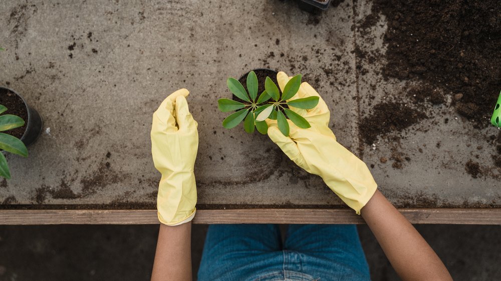
<path fill-rule="evenodd" d="M 378 135 L 406 127 L 427 118 L 426 114 L 401 102 L 385 101 L 374 105 L 371 114 L 360 122 L 360 137 L 372 144 Z"/>

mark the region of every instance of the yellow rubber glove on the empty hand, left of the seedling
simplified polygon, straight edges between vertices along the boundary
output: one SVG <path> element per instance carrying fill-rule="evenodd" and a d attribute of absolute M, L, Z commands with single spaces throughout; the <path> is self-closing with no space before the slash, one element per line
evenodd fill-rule
<path fill-rule="evenodd" d="M 158 219 L 179 225 L 193 219 L 196 185 L 193 166 L 198 150 L 197 122 L 188 110 L 187 89 L 179 89 L 162 101 L 153 113 L 151 154 L 162 174 L 158 185 Z"/>

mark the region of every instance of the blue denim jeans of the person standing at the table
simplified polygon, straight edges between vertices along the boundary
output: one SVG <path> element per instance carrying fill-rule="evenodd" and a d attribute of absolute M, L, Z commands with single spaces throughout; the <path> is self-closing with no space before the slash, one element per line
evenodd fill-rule
<path fill-rule="evenodd" d="M 198 280 L 369 280 L 355 225 L 209 226 Z"/>

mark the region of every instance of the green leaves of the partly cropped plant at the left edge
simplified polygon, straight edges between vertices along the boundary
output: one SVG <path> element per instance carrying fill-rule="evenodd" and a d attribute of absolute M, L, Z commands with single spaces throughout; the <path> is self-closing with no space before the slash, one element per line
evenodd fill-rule
<path fill-rule="evenodd" d="M 7 107 L 0 105 L 0 114 L 4 113 L 5 111 L 7 111 Z M 0 115 L 0 131 L 15 129 L 23 126 L 24 124 L 25 121 L 19 116 L 12 114 Z M 23 141 L 7 133 L 0 132 L 0 149 L 28 157 L 28 149 L 26 148 L 26 145 L 23 143 Z M 4 151 L 0 152 L 0 175 L 7 179 L 10 179 L 11 172 L 9 171 L 7 159 L 5 158 L 3 153 Z"/>

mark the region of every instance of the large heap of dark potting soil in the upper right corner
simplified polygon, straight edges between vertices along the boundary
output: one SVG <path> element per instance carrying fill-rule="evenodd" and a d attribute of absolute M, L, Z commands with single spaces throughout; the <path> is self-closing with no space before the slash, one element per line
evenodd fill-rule
<path fill-rule="evenodd" d="M 488 126 L 501 89 L 499 0 L 374 0 L 372 9 L 388 21 L 383 75 L 439 86 L 459 114 Z"/>

